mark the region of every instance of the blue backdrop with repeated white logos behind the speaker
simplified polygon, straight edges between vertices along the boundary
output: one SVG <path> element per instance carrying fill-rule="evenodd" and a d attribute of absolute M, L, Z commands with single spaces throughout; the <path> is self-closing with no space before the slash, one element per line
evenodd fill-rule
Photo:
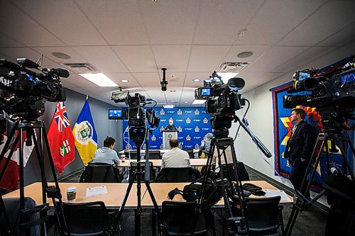
<path fill-rule="evenodd" d="M 198 149 L 201 141 L 207 133 L 212 133 L 209 123 L 210 115 L 205 108 L 154 108 L 157 116 L 160 117 L 159 127 L 149 135 L 149 149 L 159 150 L 163 148 L 163 134 L 161 130 L 169 125 L 169 119 L 174 120 L 173 125 L 178 128 L 178 140 L 182 149 Z M 137 147 L 132 140 L 129 140 L 128 120 L 124 120 L 124 140 L 122 147 L 135 150 Z M 144 148 L 145 145 L 142 145 Z M 142 148 L 143 148 L 142 147 Z"/>

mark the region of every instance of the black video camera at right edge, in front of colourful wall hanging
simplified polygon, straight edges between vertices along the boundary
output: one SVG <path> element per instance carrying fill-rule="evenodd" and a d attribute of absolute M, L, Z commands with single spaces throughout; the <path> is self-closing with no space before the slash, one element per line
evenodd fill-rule
<path fill-rule="evenodd" d="M 294 74 L 295 83 L 288 94 L 310 91 L 305 95 L 283 96 L 284 108 L 310 106 L 317 108 L 324 128 L 344 128 L 346 119 L 354 119 L 355 66 L 354 56 L 344 67 L 328 72 L 306 69 Z"/>

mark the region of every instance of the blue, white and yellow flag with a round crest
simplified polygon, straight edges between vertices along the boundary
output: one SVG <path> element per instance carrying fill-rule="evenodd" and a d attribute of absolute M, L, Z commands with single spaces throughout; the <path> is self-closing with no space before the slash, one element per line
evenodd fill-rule
<path fill-rule="evenodd" d="M 77 152 L 79 152 L 84 165 L 87 165 L 88 162 L 94 159 L 94 153 L 97 150 L 97 133 L 94 120 L 92 120 L 89 99 L 85 101 L 82 107 L 77 123 L 72 129 L 72 134 L 75 137 Z"/>

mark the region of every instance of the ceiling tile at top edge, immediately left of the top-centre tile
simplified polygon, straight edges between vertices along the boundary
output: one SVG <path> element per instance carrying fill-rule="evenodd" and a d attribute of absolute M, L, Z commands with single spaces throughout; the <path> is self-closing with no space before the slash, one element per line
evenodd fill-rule
<path fill-rule="evenodd" d="M 148 44 L 137 1 L 76 1 L 110 45 Z"/>

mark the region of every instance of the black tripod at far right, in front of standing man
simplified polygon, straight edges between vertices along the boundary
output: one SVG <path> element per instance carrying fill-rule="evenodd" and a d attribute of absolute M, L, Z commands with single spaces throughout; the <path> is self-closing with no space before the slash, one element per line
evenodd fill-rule
<path fill-rule="evenodd" d="M 302 193 L 296 191 L 296 195 L 297 195 L 297 199 L 295 201 L 295 203 L 293 203 L 293 209 L 291 211 L 290 214 L 290 218 L 288 219 L 288 224 L 286 226 L 285 229 L 285 235 L 291 235 L 291 232 L 293 230 L 293 226 L 295 225 L 295 221 L 297 218 L 297 215 L 300 211 L 305 210 L 305 208 L 312 206 L 313 203 L 315 203 L 315 201 L 317 201 L 321 196 L 324 195 L 324 193 L 327 192 L 326 189 L 323 189 L 320 193 L 317 194 L 317 196 L 315 196 L 315 198 L 312 198 L 311 201 L 308 201 L 307 199 L 305 199 L 305 196 L 307 195 L 306 193 L 308 193 L 308 191 L 310 191 L 310 185 L 312 184 L 312 180 L 315 177 L 315 172 L 317 169 L 318 164 L 320 163 L 320 157 L 322 155 L 322 150 L 325 147 L 326 149 L 326 163 L 327 163 L 327 177 L 329 178 L 329 176 L 331 176 L 331 172 L 330 172 L 330 165 L 329 165 L 329 149 L 328 149 L 328 141 L 331 142 L 331 148 L 332 150 L 336 149 L 336 145 L 337 147 L 339 147 L 340 151 L 342 152 L 342 157 L 343 157 L 343 161 L 344 161 L 344 165 L 346 167 L 345 169 L 345 174 L 346 174 L 346 170 L 349 171 L 349 174 L 351 175 L 351 179 L 353 181 L 355 181 L 355 177 L 354 177 L 354 173 L 351 171 L 351 168 L 349 166 L 349 162 L 346 159 L 346 153 L 345 153 L 345 145 L 348 144 L 349 147 L 351 148 L 351 153 L 355 154 L 355 149 L 354 146 L 351 144 L 351 140 L 349 138 L 349 135 L 344 135 L 342 134 L 342 132 L 340 130 L 332 130 L 326 133 L 320 133 L 317 137 L 317 142 L 315 145 L 315 148 L 312 152 L 312 157 L 310 159 L 310 162 L 307 166 L 306 169 L 306 174 L 305 176 L 303 176 L 303 181 L 302 181 L 302 185 L 301 188 L 302 189 L 305 184 L 307 184 L 307 187 L 305 189 L 305 191 L 303 191 Z M 312 168 L 312 163 L 315 162 L 315 167 L 312 169 L 311 175 L 310 175 L 310 180 L 307 181 L 307 173 L 310 170 L 310 168 Z"/>

